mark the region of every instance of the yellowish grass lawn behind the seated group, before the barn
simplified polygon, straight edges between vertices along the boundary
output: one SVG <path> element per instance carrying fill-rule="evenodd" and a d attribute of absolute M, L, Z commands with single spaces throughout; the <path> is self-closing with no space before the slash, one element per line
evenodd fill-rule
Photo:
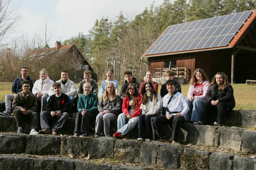
<path fill-rule="evenodd" d="M 76 84 L 78 86 L 78 84 Z M 100 87 L 100 84 L 98 84 Z M 234 110 L 250 110 L 256 111 L 256 86 L 246 84 L 232 84 L 234 88 L 234 97 L 236 100 L 236 107 Z M 182 94 L 187 97 L 188 84 L 182 84 Z M 119 90 L 121 85 L 119 85 Z M 158 88 L 160 92 L 161 86 Z M 0 83 L 0 102 L 4 102 L 4 95 L 12 94 L 12 82 Z"/>

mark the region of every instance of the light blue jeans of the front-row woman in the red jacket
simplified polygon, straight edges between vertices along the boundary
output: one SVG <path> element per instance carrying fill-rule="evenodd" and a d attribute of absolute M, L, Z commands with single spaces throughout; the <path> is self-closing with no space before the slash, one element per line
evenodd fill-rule
<path fill-rule="evenodd" d="M 126 121 L 128 120 L 127 124 Z M 132 128 L 136 127 L 138 125 L 139 116 L 136 116 L 131 119 L 127 119 L 126 115 L 123 113 L 119 114 L 117 118 L 117 132 L 119 132 L 122 135 L 127 134 Z"/>

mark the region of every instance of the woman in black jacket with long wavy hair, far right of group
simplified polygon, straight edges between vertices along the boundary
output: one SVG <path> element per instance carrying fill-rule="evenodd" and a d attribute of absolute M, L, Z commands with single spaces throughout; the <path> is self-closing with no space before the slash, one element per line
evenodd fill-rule
<path fill-rule="evenodd" d="M 234 90 L 228 84 L 227 75 L 223 72 L 218 72 L 214 75 L 210 87 L 205 95 L 207 101 L 202 110 L 202 120 L 198 121 L 198 125 L 205 125 L 207 114 L 210 111 L 217 111 L 217 121 L 215 126 L 223 125 L 224 116 L 228 110 L 232 110 L 235 105 Z"/>

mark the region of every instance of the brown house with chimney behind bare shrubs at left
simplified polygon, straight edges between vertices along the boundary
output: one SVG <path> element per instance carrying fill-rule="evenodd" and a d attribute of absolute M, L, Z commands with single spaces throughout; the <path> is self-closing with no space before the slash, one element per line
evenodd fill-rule
<path fill-rule="evenodd" d="M 84 70 L 90 70 L 93 79 L 97 81 L 97 75 L 93 72 L 92 66 L 74 44 L 61 47 L 61 43 L 56 42 L 56 47 L 54 48 L 31 51 L 29 58 L 41 61 L 42 65 L 46 62 L 50 67 L 48 72 L 51 73 L 50 78 L 53 81 L 60 79 L 61 70 L 67 70 L 69 78 L 74 82 L 79 82 L 83 79 Z M 52 63 L 52 60 L 56 62 Z M 45 66 L 42 66 L 42 68 L 45 68 Z M 56 69 L 54 70 L 54 68 Z"/>

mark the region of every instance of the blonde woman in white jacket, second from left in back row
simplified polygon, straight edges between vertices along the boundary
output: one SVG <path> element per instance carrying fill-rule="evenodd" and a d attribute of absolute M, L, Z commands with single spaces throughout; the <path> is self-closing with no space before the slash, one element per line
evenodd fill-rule
<path fill-rule="evenodd" d="M 46 111 L 48 90 L 54 84 L 54 81 L 49 79 L 47 71 L 43 68 L 40 72 L 40 79 L 35 81 L 35 84 L 32 89 L 32 93 L 37 98 L 38 108 L 41 106 L 41 112 Z"/>

